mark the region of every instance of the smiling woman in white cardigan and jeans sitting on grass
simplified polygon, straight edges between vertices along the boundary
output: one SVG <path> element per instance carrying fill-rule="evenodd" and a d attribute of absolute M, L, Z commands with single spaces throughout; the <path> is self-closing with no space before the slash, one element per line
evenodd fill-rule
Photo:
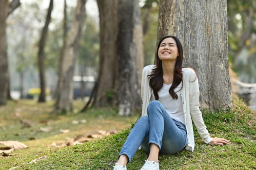
<path fill-rule="evenodd" d="M 157 48 L 156 65 L 142 72 L 142 117 L 138 119 L 118 156 L 114 170 L 126 170 L 139 146 L 149 152 L 140 170 L 159 170 L 158 153 L 194 150 L 193 125 L 205 143 L 229 144 L 211 138 L 199 110 L 199 87 L 195 71 L 182 68 L 183 50 L 175 36 L 165 36 Z"/>

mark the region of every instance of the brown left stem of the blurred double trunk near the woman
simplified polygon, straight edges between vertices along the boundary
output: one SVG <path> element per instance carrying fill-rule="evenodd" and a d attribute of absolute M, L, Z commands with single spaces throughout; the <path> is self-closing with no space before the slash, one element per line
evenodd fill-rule
<path fill-rule="evenodd" d="M 117 66 L 117 0 L 97 0 L 100 27 L 99 70 L 94 104 L 104 107 L 113 103 Z"/>

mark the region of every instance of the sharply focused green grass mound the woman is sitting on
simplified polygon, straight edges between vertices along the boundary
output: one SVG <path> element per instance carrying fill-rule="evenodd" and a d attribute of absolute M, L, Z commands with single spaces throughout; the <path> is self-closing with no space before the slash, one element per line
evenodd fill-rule
<path fill-rule="evenodd" d="M 160 169 L 256 169 L 256 113 L 236 98 L 233 98 L 233 105 L 233 110 L 219 111 L 217 113 L 203 111 L 204 121 L 210 134 L 229 138 L 232 142 L 230 145 L 221 147 L 204 144 L 195 129 L 195 151 L 183 150 L 174 155 L 160 154 Z M 104 112 L 112 113 L 113 116 L 117 114 L 111 110 L 103 111 L 100 114 L 97 110 L 91 110 L 87 114 L 91 116 L 95 114 L 95 118 L 98 117 L 97 115 L 103 114 L 103 117 L 107 119 L 108 117 L 104 116 Z M 110 116 L 110 119 L 113 118 Z M 6 168 L 20 166 L 17 170 L 112 170 L 129 132 L 130 128 L 124 129 L 118 134 L 107 136 L 103 139 L 63 149 L 41 150 L 40 152 L 32 149 L 23 150 L 19 153 L 20 156 L 0 157 L 3 161 L 10 162 L 0 165 Z M 26 156 L 21 157 L 24 154 Z M 47 155 L 47 157 L 33 164 L 22 165 L 23 162 L 30 162 L 43 155 Z M 128 164 L 128 169 L 139 169 L 145 159 L 147 159 L 147 153 L 139 150 L 131 163 Z"/>

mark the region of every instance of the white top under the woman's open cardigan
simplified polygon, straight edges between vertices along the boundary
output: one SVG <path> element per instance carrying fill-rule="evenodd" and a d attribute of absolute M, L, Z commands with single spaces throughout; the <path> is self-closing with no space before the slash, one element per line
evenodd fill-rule
<path fill-rule="evenodd" d="M 172 85 L 172 84 L 171 84 Z M 171 118 L 185 124 L 183 107 L 182 107 L 182 99 L 180 96 L 181 93 L 181 83 L 174 89 L 178 98 L 173 99 L 169 94 L 169 89 L 171 85 L 163 84 L 162 88 L 158 91 L 159 99 L 158 101 L 163 105 L 165 110 L 169 113 Z"/>

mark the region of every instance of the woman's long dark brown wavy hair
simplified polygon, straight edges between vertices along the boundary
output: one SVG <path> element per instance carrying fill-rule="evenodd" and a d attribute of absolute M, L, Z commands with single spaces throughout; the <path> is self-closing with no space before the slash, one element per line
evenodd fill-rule
<path fill-rule="evenodd" d="M 183 87 L 183 81 L 182 81 L 182 76 L 183 76 L 182 75 L 183 48 L 182 48 L 182 45 L 181 45 L 179 39 L 176 36 L 171 36 L 171 35 L 164 36 L 158 42 L 158 48 L 157 48 L 157 51 L 156 51 L 156 58 L 155 58 L 156 67 L 153 68 L 151 74 L 148 75 L 148 77 L 150 78 L 149 85 L 153 89 L 153 93 L 154 93 L 154 96 L 155 96 L 156 100 L 159 99 L 158 91 L 163 86 L 162 61 L 159 59 L 158 49 L 160 47 L 161 42 L 165 38 L 173 38 L 176 41 L 177 50 L 178 50 L 178 54 L 179 54 L 179 56 L 177 57 L 177 60 L 176 60 L 175 68 L 174 68 L 173 83 L 172 83 L 172 85 L 171 85 L 171 87 L 169 89 L 169 93 L 170 93 L 170 95 L 172 96 L 173 99 L 177 99 L 178 98 L 178 96 L 177 96 L 176 92 L 174 91 L 174 89 L 180 84 L 180 82 L 182 82 L 182 87 Z"/>

